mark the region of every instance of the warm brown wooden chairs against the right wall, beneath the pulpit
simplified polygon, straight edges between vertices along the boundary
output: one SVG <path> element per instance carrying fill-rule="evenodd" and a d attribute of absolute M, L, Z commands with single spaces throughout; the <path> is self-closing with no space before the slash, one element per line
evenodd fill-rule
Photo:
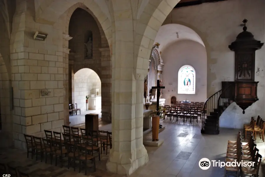
<path fill-rule="evenodd" d="M 248 133 L 252 133 L 256 140 L 257 135 L 264 142 L 264 130 L 265 130 L 265 121 L 261 119 L 260 116 L 257 117 L 257 120 L 254 117 L 251 117 L 250 124 L 244 124 L 243 133 L 245 135 L 245 140 Z"/>

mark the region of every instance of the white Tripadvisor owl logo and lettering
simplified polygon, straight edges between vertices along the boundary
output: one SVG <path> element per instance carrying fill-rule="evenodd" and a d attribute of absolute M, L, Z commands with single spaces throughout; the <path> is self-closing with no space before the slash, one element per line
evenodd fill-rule
<path fill-rule="evenodd" d="M 216 160 L 209 160 L 208 158 L 202 158 L 199 161 L 199 167 L 202 170 L 208 170 L 211 167 L 211 163 L 213 164 L 213 167 L 220 167 L 223 168 L 225 166 L 228 167 L 253 167 L 255 162 L 249 161 L 243 161 L 241 160 L 240 162 L 235 161 L 231 161 L 231 162 L 221 162 L 220 160 L 216 161 Z"/>

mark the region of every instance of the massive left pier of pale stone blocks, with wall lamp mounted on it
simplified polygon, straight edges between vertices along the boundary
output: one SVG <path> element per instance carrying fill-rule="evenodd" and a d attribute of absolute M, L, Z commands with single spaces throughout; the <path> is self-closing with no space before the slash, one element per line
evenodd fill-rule
<path fill-rule="evenodd" d="M 17 68 L 12 72 L 14 144 L 24 149 L 24 133 L 44 136 L 44 130 L 61 131 L 68 101 L 61 25 L 34 22 L 31 2 L 16 4 L 11 34 L 11 62 Z M 39 30 L 48 34 L 45 41 L 33 39 Z"/>

